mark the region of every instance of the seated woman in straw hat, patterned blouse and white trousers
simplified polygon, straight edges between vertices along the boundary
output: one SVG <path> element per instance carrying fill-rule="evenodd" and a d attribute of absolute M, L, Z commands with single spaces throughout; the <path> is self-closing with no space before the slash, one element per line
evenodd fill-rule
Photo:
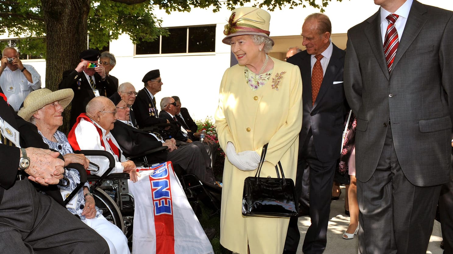
<path fill-rule="evenodd" d="M 25 98 L 24 107 L 19 110 L 18 114 L 38 127 L 43 141 L 63 155 L 66 166 L 70 163 L 79 163 L 86 169 L 89 160 L 82 154 L 73 154 L 66 136 L 57 130 L 63 124 L 61 113 L 71 103 L 73 97 L 72 89 L 61 89 L 55 92 L 45 88 L 38 89 Z M 80 183 L 80 175 L 76 169 L 65 169 L 64 175 L 70 183 L 67 187 L 59 186 L 63 198 Z M 88 183 L 85 183 L 85 186 L 66 205 L 67 210 L 79 216 L 85 224 L 96 230 L 106 240 L 110 253 L 130 253 L 125 235 L 102 216 L 99 208 L 95 206 L 89 187 Z"/>

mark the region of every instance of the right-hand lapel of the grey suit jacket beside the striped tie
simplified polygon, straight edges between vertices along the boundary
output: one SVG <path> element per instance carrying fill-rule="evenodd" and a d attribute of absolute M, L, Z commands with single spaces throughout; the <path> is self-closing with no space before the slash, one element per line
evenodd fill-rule
<path fill-rule="evenodd" d="M 404 27 L 403 35 L 400 38 L 400 44 L 396 50 L 395 60 L 393 61 L 392 71 L 395 70 L 395 67 L 398 65 L 401 57 L 404 55 L 409 46 L 414 42 L 414 39 L 420 33 L 424 24 L 426 23 L 426 18 L 422 16 L 426 12 L 423 5 L 419 2 L 414 1 L 410 7 L 409 17 L 406 21 Z"/>

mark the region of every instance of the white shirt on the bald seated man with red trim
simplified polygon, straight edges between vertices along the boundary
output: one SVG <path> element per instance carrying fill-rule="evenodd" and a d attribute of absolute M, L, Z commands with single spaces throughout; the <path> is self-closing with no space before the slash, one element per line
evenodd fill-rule
<path fill-rule="evenodd" d="M 105 147 L 101 146 L 101 137 L 99 136 L 99 133 L 94 125 L 101 129 L 102 141 L 104 142 Z M 75 135 L 81 150 L 102 150 L 111 153 L 111 155 L 115 158 L 116 163 L 115 168 L 113 168 L 110 173 L 123 173 L 124 166 L 120 161 L 126 161 L 126 158 L 123 155 L 123 151 L 121 151 L 120 145 L 118 145 L 115 137 L 113 137 L 110 132 L 106 135 L 106 130 L 104 130 L 96 122 L 88 122 L 85 119 L 81 119 L 75 129 Z M 118 156 L 112 151 L 108 140 L 111 140 L 113 144 L 118 147 L 118 150 L 121 151 L 121 158 L 118 158 Z M 92 174 L 101 176 L 109 168 L 109 160 L 104 156 L 87 156 L 87 158 L 93 163 L 99 165 L 99 171 L 92 172 Z"/>

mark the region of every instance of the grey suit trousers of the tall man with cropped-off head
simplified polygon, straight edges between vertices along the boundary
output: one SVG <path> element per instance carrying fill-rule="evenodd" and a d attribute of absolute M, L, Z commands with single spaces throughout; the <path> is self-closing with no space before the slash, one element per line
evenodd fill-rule
<path fill-rule="evenodd" d="M 357 180 L 359 253 L 425 254 L 440 188 L 409 182 L 396 157 L 389 125 L 376 171 L 365 183 Z"/>

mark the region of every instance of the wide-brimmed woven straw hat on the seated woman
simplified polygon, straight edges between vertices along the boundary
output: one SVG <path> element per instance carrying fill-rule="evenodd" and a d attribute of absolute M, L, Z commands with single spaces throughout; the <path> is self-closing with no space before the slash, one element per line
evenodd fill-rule
<path fill-rule="evenodd" d="M 47 88 L 41 88 L 29 93 L 24 100 L 24 107 L 20 108 L 19 117 L 24 118 L 25 121 L 30 121 L 33 114 L 45 105 L 58 101 L 63 108 L 66 108 L 71 103 L 74 97 L 72 89 L 61 89 L 55 92 Z"/>

